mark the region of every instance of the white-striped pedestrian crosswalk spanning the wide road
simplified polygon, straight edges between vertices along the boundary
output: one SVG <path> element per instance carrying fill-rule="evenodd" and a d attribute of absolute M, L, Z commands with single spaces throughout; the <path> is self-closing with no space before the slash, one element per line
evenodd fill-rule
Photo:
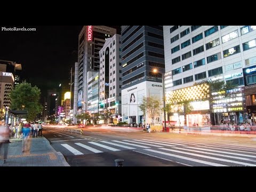
<path fill-rule="evenodd" d="M 87 155 L 133 150 L 190 166 L 256 166 L 256 147 L 216 140 L 123 139 L 62 143 L 66 154 Z"/>

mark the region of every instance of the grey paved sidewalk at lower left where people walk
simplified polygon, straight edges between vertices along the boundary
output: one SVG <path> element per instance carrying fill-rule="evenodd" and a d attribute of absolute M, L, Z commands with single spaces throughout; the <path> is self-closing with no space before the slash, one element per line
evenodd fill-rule
<path fill-rule="evenodd" d="M 13 138 L 10 141 L 5 164 L 1 148 L 0 166 L 69 166 L 63 155 L 44 137 L 31 138 L 30 150 L 25 153 L 21 153 L 21 140 Z"/>

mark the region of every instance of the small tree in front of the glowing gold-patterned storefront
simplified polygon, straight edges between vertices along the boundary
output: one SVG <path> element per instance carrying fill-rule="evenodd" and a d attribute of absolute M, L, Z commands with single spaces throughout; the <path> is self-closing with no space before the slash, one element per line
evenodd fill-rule
<path fill-rule="evenodd" d="M 187 95 L 182 94 L 178 91 L 173 91 L 171 94 L 169 94 L 169 97 L 167 98 L 167 104 L 165 105 L 165 110 L 167 114 L 178 114 L 178 122 L 180 126 L 180 116 L 184 115 L 185 122 L 184 124 L 187 124 L 187 117 L 186 115 L 193 110 L 193 107 L 190 105 L 190 102 L 192 102 L 192 99 L 189 99 Z"/>

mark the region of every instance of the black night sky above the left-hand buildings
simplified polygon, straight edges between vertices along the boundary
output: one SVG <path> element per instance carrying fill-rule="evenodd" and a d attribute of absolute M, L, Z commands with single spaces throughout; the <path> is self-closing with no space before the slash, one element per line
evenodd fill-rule
<path fill-rule="evenodd" d="M 36 31 L 2 31 L 2 27 L 36 28 Z M 109 26 L 117 29 L 120 26 Z M 78 35 L 83 26 L 0 26 L 0 60 L 22 65 L 22 77 L 41 89 L 70 81 L 77 61 Z"/>

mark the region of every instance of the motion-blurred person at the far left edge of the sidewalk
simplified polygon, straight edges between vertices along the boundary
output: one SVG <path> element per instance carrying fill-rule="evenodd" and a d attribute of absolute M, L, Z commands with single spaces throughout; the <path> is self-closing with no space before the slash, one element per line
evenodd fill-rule
<path fill-rule="evenodd" d="M 8 126 L 1 126 L 0 127 L 0 151 L 1 148 L 4 148 L 4 155 L 3 155 L 3 164 L 6 163 L 8 148 L 9 148 L 9 138 L 10 138 L 10 129 Z"/>

